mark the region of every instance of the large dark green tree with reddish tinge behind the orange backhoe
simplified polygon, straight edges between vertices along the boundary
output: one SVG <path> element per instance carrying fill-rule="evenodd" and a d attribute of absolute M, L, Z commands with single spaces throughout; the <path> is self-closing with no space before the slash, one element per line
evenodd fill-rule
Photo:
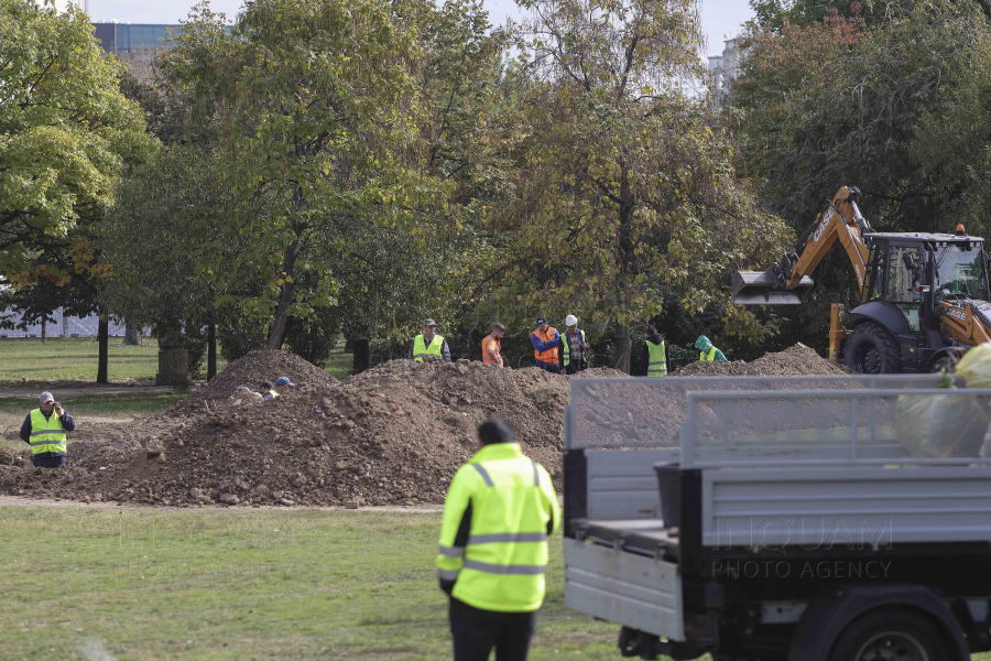
<path fill-rule="evenodd" d="M 967 192 L 961 178 L 943 175 L 978 161 L 960 158 L 969 147 L 951 133 L 966 136 L 979 122 L 968 116 L 977 107 L 949 120 L 946 101 L 962 80 L 985 75 L 988 21 L 970 2 L 889 8 L 880 17 L 875 10 L 870 24 L 854 13 L 780 32 L 752 26 L 744 35 L 742 73 L 730 95 L 739 118 L 737 165 L 756 183 L 764 208 L 797 232 L 841 185 L 860 187 L 861 210 L 876 230 L 956 225 L 947 213 L 962 208 Z M 784 333 L 823 346 L 830 303 L 854 303 L 859 291 L 839 250 L 815 280 L 805 305 L 783 313 Z"/>

